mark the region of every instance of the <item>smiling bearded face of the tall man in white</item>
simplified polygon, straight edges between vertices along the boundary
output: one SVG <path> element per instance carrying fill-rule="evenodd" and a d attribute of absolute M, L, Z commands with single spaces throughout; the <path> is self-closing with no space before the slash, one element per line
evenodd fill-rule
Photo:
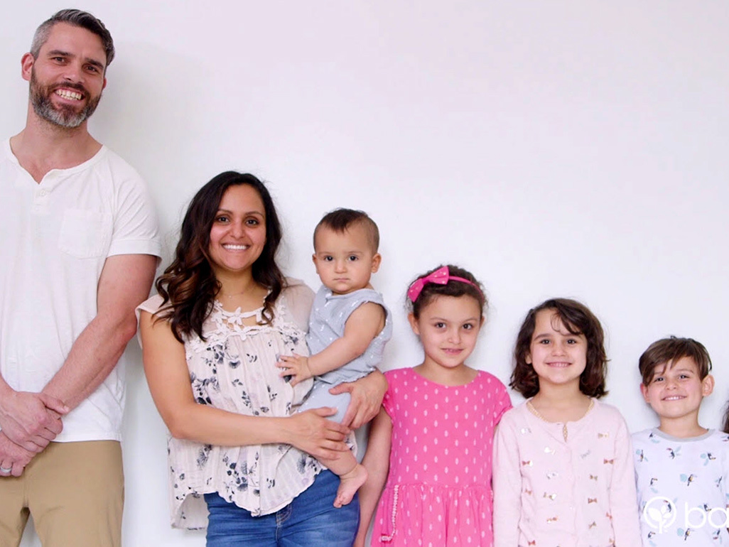
<path fill-rule="evenodd" d="M 76 128 L 93 114 L 106 86 L 106 53 L 101 38 L 85 28 L 56 23 L 38 57 L 23 56 L 23 78 L 42 120 Z"/>

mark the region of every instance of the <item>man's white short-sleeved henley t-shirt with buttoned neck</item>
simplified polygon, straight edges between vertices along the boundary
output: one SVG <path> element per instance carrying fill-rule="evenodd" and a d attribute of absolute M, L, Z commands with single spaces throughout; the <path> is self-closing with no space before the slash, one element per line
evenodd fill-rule
<path fill-rule="evenodd" d="M 95 317 L 106 257 L 161 255 L 157 216 L 139 174 L 106 147 L 36 183 L 0 144 L 0 373 L 40 392 Z M 120 440 L 125 355 L 63 418 L 55 441 Z"/>

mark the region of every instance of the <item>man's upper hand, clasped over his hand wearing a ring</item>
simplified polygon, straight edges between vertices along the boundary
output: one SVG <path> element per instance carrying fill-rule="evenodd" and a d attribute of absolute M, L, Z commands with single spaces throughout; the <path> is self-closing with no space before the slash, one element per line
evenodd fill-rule
<path fill-rule="evenodd" d="M 40 452 L 63 430 L 61 416 L 68 412 L 61 400 L 45 393 L 10 391 L 0 400 L 0 428 L 20 448 Z"/>

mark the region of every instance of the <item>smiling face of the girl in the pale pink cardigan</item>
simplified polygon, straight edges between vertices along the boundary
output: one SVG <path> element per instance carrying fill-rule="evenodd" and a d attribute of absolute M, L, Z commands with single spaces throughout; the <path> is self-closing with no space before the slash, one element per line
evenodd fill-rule
<path fill-rule="evenodd" d="M 550 386 L 574 386 L 579 391 L 587 352 L 585 335 L 570 333 L 554 310 L 543 309 L 537 313 L 526 362 L 539 376 L 540 390 Z"/>

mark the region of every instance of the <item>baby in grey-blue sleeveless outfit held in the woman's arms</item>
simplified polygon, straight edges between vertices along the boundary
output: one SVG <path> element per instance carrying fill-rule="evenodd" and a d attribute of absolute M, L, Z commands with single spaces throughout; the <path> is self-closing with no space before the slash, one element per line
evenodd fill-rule
<path fill-rule="evenodd" d="M 278 365 L 292 385 L 315 376 L 300 411 L 334 407 L 337 414 L 331 419 L 341 422 L 350 397 L 332 395 L 330 388 L 367 376 L 382 361 L 392 325 L 382 295 L 370 284 L 380 267 L 379 243 L 377 225 L 362 211 L 336 209 L 316 225 L 312 258 L 322 286 L 314 298 L 306 336 L 311 356 L 281 357 Z M 351 502 L 367 480 L 367 471 L 351 452 L 322 463 L 341 480 L 335 507 Z"/>

